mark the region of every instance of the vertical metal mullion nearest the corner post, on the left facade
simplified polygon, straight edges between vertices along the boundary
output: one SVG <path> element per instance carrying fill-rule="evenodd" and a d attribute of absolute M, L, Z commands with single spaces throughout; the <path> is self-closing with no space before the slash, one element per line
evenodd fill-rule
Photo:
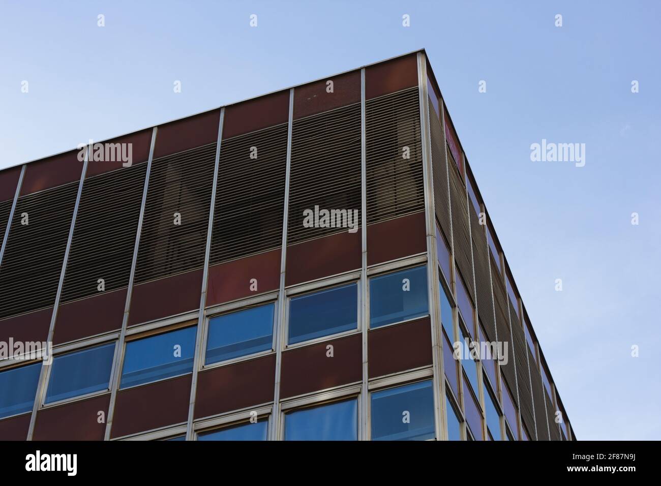
<path fill-rule="evenodd" d="M 367 125 L 365 99 L 365 68 L 360 69 L 360 214 L 361 214 L 361 271 L 360 271 L 360 325 L 362 326 L 362 400 L 360 402 L 361 440 L 369 440 L 369 290 L 368 290 L 368 217 L 367 217 Z"/>

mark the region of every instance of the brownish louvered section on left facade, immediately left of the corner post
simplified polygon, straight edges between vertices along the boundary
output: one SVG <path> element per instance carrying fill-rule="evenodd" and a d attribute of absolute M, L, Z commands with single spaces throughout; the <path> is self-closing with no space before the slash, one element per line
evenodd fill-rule
<path fill-rule="evenodd" d="M 368 224 L 424 211 L 417 87 L 366 102 L 366 156 Z"/>

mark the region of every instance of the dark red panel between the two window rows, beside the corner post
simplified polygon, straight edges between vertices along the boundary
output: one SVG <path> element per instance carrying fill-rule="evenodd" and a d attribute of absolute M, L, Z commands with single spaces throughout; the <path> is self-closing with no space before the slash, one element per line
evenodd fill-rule
<path fill-rule="evenodd" d="M 368 333 L 369 378 L 432 364 L 429 317 Z"/>

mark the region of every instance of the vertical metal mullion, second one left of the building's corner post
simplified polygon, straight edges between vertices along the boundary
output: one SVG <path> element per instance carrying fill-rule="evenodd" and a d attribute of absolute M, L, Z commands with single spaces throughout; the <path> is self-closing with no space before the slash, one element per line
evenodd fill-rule
<path fill-rule="evenodd" d="M 280 252 L 280 292 L 278 293 L 278 325 L 276 327 L 276 375 L 273 394 L 273 420 L 270 438 L 281 440 L 282 426 L 280 413 L 280 373 L 282 371 L 282 343 L 284 342 L 284 328 L 286 319 L 287 299 L 285 295 L 285 271 L 287 264 L 287 229 L 289 218 L 289 190 L 290 173 L 292 167 L 292 126 L 293 126 L 293 88 L 290 88 L 289 119 L 287 126 L 287 168 L 285 171 L 285 200 L 282 216 L 282 249 Z"/>

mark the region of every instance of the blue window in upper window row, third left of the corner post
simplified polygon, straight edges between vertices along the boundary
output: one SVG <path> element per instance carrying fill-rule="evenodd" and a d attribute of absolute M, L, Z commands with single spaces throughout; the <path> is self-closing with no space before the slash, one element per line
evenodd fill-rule
<path fill-rule="evenodd" d="M 205 363 L 270 350 L 275 304 L 260 305 L 210 319 Z"/>

